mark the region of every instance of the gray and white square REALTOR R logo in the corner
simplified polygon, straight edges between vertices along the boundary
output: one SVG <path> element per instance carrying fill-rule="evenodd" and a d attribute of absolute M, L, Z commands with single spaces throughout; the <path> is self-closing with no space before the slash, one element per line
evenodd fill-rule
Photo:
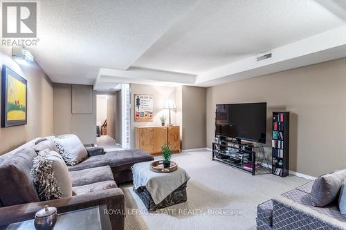
<path fill-rule="evenodd" d="M 29 38 L 37 36 L 36 2 L 2 3 L 2 37 Z"/>

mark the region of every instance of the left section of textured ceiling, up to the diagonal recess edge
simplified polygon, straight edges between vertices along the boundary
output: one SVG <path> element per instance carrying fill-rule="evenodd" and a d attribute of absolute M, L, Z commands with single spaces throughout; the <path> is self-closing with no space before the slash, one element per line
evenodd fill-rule
<path fill-rule="evenodd" d="M 93 84 L 103 68 L 126 70 L 195 1 L 40 1 L 33 55 L 53 82 Z"/>

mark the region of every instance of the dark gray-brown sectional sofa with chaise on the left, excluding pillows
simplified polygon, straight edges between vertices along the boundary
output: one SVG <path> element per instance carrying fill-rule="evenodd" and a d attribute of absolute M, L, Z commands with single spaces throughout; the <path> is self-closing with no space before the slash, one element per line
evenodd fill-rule
<path fill-rule="evenodd" d="M 0 156 L 0 229 L 6 229 L 12 222 L 33 219 L 45 205 L 57 207 L 58 213 L 101 204 L 107 205 L 107 209 L 124 210 L 124 193 L 117 184 L 132 180 L 131 166 L 136 162 L 154 160 L 140 150 L 104 154 L 97 149 L 88 151 L 89 157 L 83 162 L 69 166 L 73 196 L 39 201 L 30 176 L 37 155 L 33 146 L 38 139 Z M 93 155 L 95 152 L 98 154 Z M 109 216 L 113 229 L 124 229 L 125 216 L 121 213 Z"/>

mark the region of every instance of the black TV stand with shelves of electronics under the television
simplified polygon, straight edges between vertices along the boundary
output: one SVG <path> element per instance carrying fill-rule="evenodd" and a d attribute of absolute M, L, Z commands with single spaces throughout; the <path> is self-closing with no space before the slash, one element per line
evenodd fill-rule
<path fill-rule="evenodd" d="M 252 175 L 256 173 L 256 153 L 253 151 L 253 143 L 242 142 L 240 139 L 216 135 L 212 143 L 212 160 Z"/>

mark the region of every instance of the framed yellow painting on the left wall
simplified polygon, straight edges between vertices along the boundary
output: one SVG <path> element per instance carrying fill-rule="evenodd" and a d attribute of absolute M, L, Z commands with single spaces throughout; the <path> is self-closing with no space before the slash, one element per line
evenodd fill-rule
<path fill-rule="evenodd" d="M 27 96 L 26 79 L 3 65 L 1 71 L 1 127 L 26 124 Z"/>

